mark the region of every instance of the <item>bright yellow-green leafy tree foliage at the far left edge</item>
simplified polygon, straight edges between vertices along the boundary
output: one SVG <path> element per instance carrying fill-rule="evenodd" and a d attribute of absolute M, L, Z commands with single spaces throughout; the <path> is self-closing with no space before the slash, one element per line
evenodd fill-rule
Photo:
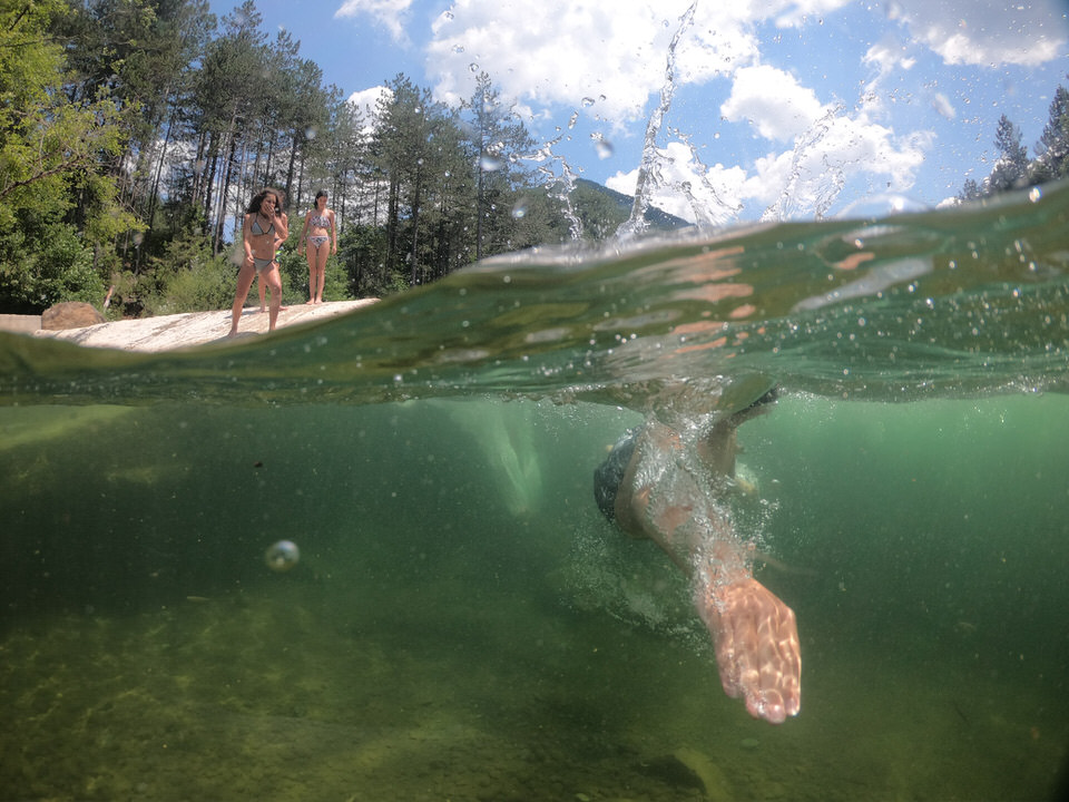
<path fill-rule="evenodd" d="M 0 2 L 0 309 L 40 311 L 57 301 L 102 301 L 94 245 L 137 227 L 117 205 L 101 159 L 121 153 L 115 104 L 72 100 L 62 48 L 47 36 L 58 1 Z M 101 268 L 106 268 L 107 260 Z"/>

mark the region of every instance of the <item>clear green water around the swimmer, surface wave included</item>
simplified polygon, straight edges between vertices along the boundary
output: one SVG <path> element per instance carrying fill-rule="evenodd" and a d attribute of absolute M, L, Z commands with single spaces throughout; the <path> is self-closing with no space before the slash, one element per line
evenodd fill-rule
<path fill-rule="evenodd" d="M 539 255 L 188 354 L 0 339 L 0 799 L 1052 798 L 1067 208 Z M 644 414 L 769 383 L 782 726 L 591 496 Z"/>

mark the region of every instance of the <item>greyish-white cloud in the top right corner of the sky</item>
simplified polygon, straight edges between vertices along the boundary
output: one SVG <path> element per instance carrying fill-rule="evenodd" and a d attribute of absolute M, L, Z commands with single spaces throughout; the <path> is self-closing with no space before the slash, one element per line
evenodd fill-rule
<path fill-rule="evenodd" d="M 895 18 L 949 65 L 1034 67 L 1063 58 L 1059 0 L 898 0 Z"/>

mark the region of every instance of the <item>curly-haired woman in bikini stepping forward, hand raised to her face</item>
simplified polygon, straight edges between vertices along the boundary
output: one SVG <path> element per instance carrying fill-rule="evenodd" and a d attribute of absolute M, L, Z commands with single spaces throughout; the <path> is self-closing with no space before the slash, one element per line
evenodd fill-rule
<path fill-rule="evenodd" d="M 268 330 L 275 330 L 278 310 L 282 306 L 282 276 L 275 251 L 290 236 L 290 221 L 282 211 L 282 197 L 275 189 L 264 189 L 253 198 L 242 226 L 242 239 L 245 244 L 245 260 L 237 274 L 237 293 L 231 310 L 231 333 L 237 334 L 237 322 L 242 319 L 242 309 L 248 296 L 253 278 L 259 276 L 271 288 L 271 309 Z"/>

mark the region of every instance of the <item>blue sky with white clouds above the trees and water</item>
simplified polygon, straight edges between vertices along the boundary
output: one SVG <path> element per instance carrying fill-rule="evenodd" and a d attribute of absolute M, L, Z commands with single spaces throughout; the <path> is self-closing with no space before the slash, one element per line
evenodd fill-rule
<path fill-rule="evenodd" d="M 362 106 L 398 72 L 457 104 L 486 71 L 553 156 L 627 194 L 678 35 L 655 200 L 715 224 L 936 206 L 990 173 L 999 115 L 1031 154 L 1069 86 L 1066 0 L 256 4 Z"/>

